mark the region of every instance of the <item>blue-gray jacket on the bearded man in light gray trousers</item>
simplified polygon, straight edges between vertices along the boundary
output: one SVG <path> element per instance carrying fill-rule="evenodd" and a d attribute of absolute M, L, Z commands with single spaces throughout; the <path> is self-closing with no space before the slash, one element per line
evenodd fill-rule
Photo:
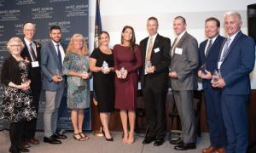
<path fill-rule="evenodd" d="M 61 44 L 62 48 L 64 46 Z M 65 50 L 65 48 L 64 48 Z M 43 89 L 48 91 L 56 91 L 58 88 L 64 88 L 65 79 L 62 82 L 53 82 L 51 79 L 56 74 L 56 71 L 62 71 L 59 65 L 58 54 L 55 46 L 50 40 L 46 43 L 41 51 L 41 70 L 43 72 Z"/>

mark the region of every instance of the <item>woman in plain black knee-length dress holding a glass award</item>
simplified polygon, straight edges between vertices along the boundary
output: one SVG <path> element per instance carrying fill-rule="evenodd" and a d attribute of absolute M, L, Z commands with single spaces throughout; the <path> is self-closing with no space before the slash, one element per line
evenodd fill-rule
<path fill-rule="evenodd" d="M 90 71 L 93 71 L 93 87 L 100 111 L 103 131 L 107 141 L 113 141 L 108 129 L 110 112 L 113 111 L 114 84 L 113 84 L 113 53 L 109 44 L 109 34 L 102 31 L 99 34 L 99 48 L 90 54 Z"/>

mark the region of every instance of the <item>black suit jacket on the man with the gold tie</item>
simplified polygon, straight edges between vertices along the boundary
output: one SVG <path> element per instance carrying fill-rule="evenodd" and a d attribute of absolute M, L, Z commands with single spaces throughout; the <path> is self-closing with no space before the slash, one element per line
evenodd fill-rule
<path fill-rule="evenodd" d="M 140 69 L 140 81 L 142 88 L 145 86 L 145 56 L 147 52 L 148 37 L 144 38 L 140 42 L 140 47 L 142 49 L 143 56 L 143 66 Z M 168 82 L 168 65 L 170 64 L 171 57 L 169 55 L 169 50 L 171 48 L 171 40 L 167 37 L 162 37 L 159 34 L 155 37 L 154 45 L 152 48 L 152 53 L 150 61 L 152 65 L 155 66 L 156 71 L 153 74 L 148 74 L 147 86 L 154 86 L 156 88 L 167 88 Z"/>

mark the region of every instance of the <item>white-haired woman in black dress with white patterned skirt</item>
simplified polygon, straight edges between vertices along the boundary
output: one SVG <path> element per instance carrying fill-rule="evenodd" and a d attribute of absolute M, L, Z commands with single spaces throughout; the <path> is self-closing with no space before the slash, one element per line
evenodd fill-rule
<path fill-rule="evenodd" d="M 5 59 L 1 72 L 3 83 L 3 99 L 0 101 L 0 118 L 11 122 L 9 127 L 10 152 L 28 152 L 21 145 L 21 137 L 26 121 L 37 117 L 35 107 L 32 107 L 30 80 L 28 76 L 28 60 L 22 59 L 21 50 L 24 48 L 19 37 L 12 37 L 7 43 L 9 58 Z"/>

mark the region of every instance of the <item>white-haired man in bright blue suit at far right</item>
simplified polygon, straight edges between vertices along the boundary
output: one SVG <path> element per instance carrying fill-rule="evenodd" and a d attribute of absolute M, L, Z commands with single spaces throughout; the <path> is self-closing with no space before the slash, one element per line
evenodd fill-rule
<path fill-rule="evenodd" d="M 255 61 L 255 43 L 241 32 L 241 15 L 224 14 L 224 28 L 228 34 L 218 58 L 220 77 L 212 86 L 222 88 L 221 107 L 228 145 L 226 152 L 245 153 L 248 144 L 247 101 L 250 77 Z"/>

